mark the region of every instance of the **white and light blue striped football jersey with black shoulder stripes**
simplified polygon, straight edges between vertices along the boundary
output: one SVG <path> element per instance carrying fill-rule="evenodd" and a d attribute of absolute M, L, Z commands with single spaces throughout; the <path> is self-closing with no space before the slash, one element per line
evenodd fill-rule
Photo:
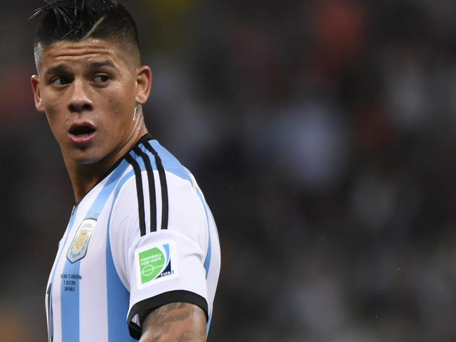
<path fill-rule="evenodd" d="M 173 302 L 201 307 L 209 329 L 219 272 L 199 186 L 146 135 L 73 209 L 46 291 L 49 341 L 136 341 L 142 317 Z"/>

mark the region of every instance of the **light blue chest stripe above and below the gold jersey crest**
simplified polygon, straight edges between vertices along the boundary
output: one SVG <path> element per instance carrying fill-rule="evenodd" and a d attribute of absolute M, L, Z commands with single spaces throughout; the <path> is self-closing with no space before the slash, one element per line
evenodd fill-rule
<path fill-rule="evenodd" d="M 98 194 L 93 202 L 90 210 L 87 212 L 86 219 L 98 219 L 102 207 L 105 205 L 109 195 L 112 193 L 117 180 L 122 175 L 123 171 L 128 167 L 126 160 L 123 160 L 112 172 L 111 177 L 107 180 L 105 186 Z M 95 226 L 96 228 L 96 226 Z M 76 229 L 72 227 L 72 230 Z M 67 278 L 62 278 L 60 289 L 61 300 L 61 316 L 62 316 L 62 341 L 64 342 L 79 342 L 79 268 L 81 260 L 72 264 L 68 259 L 65 261 L 63 275 Z M 73 280 L 74 286 L 67 287 L 72 291 L 65 291 L 65 280 Z"/>

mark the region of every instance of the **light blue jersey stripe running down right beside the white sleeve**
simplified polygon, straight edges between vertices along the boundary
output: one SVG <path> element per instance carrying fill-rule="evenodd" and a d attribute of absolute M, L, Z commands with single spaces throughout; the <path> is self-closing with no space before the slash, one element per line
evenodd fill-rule
<path fill-rule="evenodd" d="M 126 313 L 130 303 L 130 293 L 123 286 L 119 275 L 117 274 L 114 260 L 112 259 L 111 242 L 109 241 L 109 228 L 111 225 L 111 215 L 116 198 L 123 184 L 133 177 L 135 172 L 130 171 L 117 183 L 112 199 L 111 211 L 109 212 L 107 226 L 107 242 L 106 242 L 106 293 L 107 293 L 107 315 L 108 315 L 108 341 L 109 342 L 124 342 L 136 341 L 128 332 L 128 324 L 126 324 Z"/>

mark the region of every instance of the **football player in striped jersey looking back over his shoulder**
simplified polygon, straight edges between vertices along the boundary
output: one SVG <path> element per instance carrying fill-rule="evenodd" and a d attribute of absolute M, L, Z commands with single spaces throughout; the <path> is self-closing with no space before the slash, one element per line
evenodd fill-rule
<path fill-rule="evenodd" d="M 76 205 L 46 292 L 49 341 L 205 341 L 220 271 L 192 174 L 147 133 L 152 83 L 112 0 L 48 0 L 34 43 L 35 106 Z"/>

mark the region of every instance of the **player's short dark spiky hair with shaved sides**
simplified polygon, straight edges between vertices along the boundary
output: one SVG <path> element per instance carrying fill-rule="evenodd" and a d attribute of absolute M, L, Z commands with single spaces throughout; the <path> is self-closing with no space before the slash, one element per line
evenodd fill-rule
<path fill-rule="evenodd" d="M 107 39 L 140 55 L 138 27 L 128 9 L 114 0 L 44 0 L 29 19 L 43 15 L 34 39 L 36 68 L 42 48 L 58 41 Z"/>

